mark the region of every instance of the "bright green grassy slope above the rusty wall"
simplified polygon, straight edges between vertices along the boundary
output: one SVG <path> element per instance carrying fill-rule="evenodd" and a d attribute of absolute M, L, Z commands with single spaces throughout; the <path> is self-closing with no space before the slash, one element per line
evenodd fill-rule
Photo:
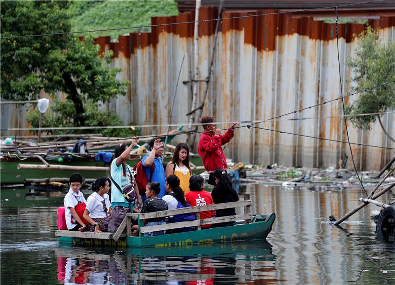
<path fill-rule="evenodd" d="M 173 0 L 159 1 L 73 1 L 70 7 L 72 31 L 88 31 L 119 27 L 145 26 L 151 17 L 178 15 L 177 3 Z M 150 32 L 149 27 L 92 33 L 93 36 L 118 38 L 132 32 Z"/>

